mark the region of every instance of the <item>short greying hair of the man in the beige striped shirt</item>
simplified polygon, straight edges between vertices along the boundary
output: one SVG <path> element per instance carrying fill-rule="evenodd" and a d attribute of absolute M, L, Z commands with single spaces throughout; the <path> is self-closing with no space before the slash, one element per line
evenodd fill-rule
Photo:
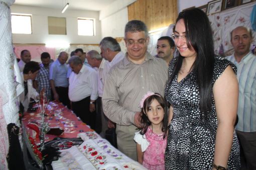
<path fill-rule="evenodd" d="M 144 31 L 146 37 L 149 36 L 147 25 L 141 20 L 130 20 L 126 23 L 124 29 L 124 35 L 126 36 L 127 32 L 141 32 Z"/>

